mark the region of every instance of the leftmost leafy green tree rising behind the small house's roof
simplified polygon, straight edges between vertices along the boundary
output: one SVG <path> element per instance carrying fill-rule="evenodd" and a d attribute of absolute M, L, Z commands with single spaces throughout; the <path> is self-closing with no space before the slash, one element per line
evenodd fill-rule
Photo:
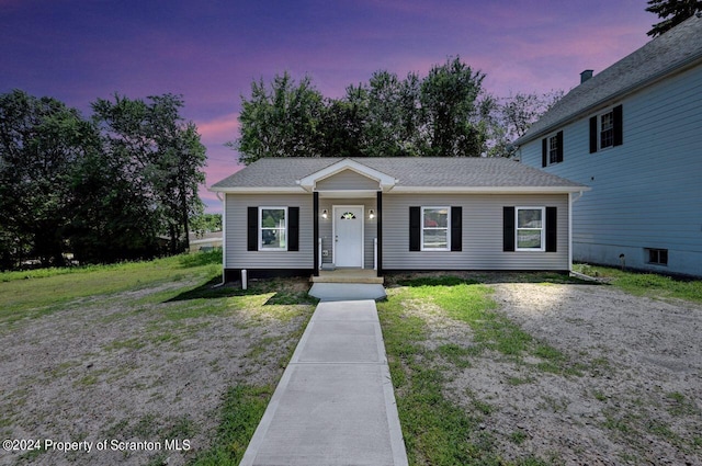
<path fill-rule="evenodd" d="M 261 157 L 319 157 L 324 134 L 322 95 L 309 77 L 298 84 L 287 72 L 275 76 L 270 91 L 263 80 L 251 83 L 251 96 L 241 96 L 241 136 L 228 143 L 249 164 Z"/>

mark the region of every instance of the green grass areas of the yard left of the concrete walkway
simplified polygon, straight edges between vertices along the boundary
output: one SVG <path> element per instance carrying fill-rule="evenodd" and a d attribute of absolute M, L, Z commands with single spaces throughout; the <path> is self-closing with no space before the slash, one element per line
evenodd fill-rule
<path fill-rule="evenodd" d="M 104 351 L 124 349 L 139 350 L 151 345 L 174 345 L 197 330 L 193 319 L 216 318 L 227 312 L 242 312 L 239 325 L 245 328 L 265 326 L 271 319 L 286 322 L 302 318 L 296 330 L 290 334 L 263 337 L 252 343 L 245 357 L 247 371 L 259 370 L 264 356 L 272 351 L 273 364 L 280 368 L 280 375 L 302 332 L 312 316 L 317 299 L 309 297 L 299 281 L 267 280 L 250 281 L 249 287 L 213 287 L 222 280 L 222 251 L 183 254 L 146 262 L 132 262 L 114 265 L 88 268 L 67 268 L 37 270 L 32 272 L 11 272 L 0 274 L 0 323 L 25 318 L 41 318 L 52 312 L 72 309 L 84 300 L 97 300 L 111 306 L 115 299 L 120 306 L 128 307 L 133 312 L 144 312 L 149 321 L 146 331 L 133 338 L 114 341 L 104 346 Z M 161 288 L 161 285 L 166 285 Z M 145 293 L 135 293 L 144 289 Z M 124 293 L 127 294 L 124 294 Z M 109 315 L 105 319 L 120 319 L 122 314 Z M 267 363 L 268 364 L 268 363 Z M 98 383 L 103 374 L 92 374 L 76 380 L 77 388 L 90 387 Z M 265 385 L 247 385 L 233 380 L 233 385 L 223 393 L 219 408 L 219 424 L 212 444 L 194 452 L 189 464 L 194 465 L 237 465 L 260 422 L 273 394 L 278 378 Z M 113 437 L 126 437 L 132 432 L 141 436 L 155 436 L 155 429 L 161 429 L 156 418 L 147 417 L 124 421 L 114 427 Z M 160 419 L 160 418 L 159 418 Z M 0 419 L 0 427 L 4 419 Z M 191 422 L 189 419 L 185 421 Z M 189 432 L 199 427 L 188 422 L 177 422 L 172 427 L 178 435 L 169 437 L 185 439 Z M 192 422 L 191 422 L 192 423 Z M 188 424 L 188 425 L 186 425 Z M 185 432 L 183 425 L 188 429 Z M 169 428 L 170 429 L 170 428 Z M 169 431 L 170 432 L 170 431 Z M 158 431 L 159 435 L 161 431 Z M 152 457 L 149 464 L 163 464 L 162 455 Z"/>

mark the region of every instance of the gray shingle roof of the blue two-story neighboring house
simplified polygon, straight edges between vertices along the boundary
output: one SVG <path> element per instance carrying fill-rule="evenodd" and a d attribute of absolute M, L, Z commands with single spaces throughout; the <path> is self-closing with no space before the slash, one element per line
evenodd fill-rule
<path fill-rule="evenodd" d="M 525 144 L 586 112 L 702 59 L 702 18 L 692 15 L 602 72 L 574 88 L 514 141 Z"/>

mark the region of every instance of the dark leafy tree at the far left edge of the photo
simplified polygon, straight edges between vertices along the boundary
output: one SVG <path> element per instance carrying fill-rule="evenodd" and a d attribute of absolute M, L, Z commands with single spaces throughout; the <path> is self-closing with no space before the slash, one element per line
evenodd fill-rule
<path fill-rule="evenodd" d="M 52 98 L 0 95 L 0 246 L 3 266 L 23 254 L 63 265 L 75 194 L 71 180 L 94 154 L 94 126 Z"/>

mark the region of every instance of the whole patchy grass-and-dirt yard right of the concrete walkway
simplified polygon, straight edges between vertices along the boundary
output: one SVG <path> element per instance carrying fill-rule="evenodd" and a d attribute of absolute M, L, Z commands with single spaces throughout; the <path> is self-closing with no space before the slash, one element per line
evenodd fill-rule
<path fill-rule="evenodd" d="M 540 277 L 388 289 L 410 464 L 702 464 L 702 306 Z"/>

